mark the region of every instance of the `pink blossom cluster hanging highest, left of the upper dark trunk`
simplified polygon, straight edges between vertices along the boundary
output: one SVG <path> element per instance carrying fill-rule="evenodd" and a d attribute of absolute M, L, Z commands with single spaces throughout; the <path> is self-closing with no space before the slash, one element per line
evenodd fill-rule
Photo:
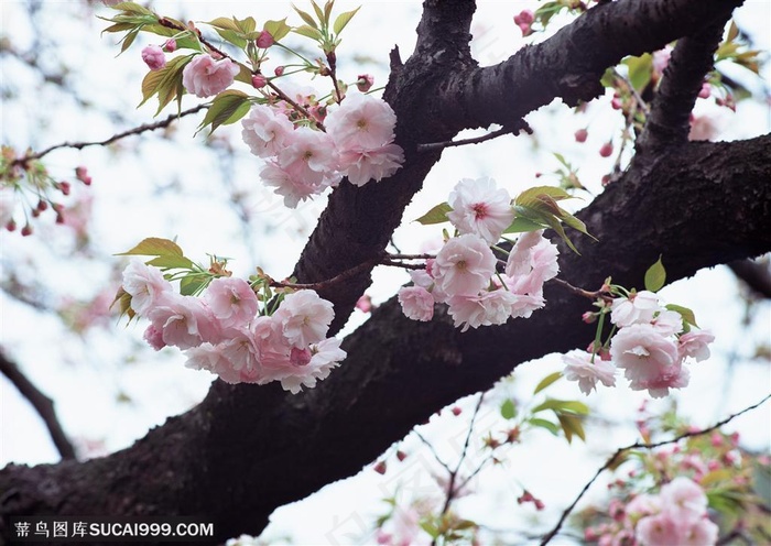
<path fill-rule="evenodd" d="M 260 176 L 287 207 L 336 186 L 344 176 L 357 186 L 379 182 L 404 161 L 393 143 L 397 116 L 382 99 L 352 94 L 328 114 L 323 107 L 312 109 L 316 121 L 326 114 L 326 132 L 316 123 L 294 123 L 296 113 L 279 101 L 253 106 L 241 121 L 243 141 L 267 160 Z"/>

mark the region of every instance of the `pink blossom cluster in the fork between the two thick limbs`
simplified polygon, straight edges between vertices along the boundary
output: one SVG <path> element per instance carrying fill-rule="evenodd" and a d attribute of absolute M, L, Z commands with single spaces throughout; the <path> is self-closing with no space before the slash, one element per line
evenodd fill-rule
<path fill-rule="evenodd" d="M 413 286 L 399 291 L 404 315 L 431 320 L 435 303 L 446 303 L 456 327 L 504 324 L 544 306 L 543 283 L 556 276 L 557 248 L 543 231 L 522 234 L 503 271 L 490 250 L 514 219 L 506 189 L 495 181 L 460 181 L 449 196 L 447 219 L 459 233 L 448 239 L 425 270 L 412 271 Z"/>

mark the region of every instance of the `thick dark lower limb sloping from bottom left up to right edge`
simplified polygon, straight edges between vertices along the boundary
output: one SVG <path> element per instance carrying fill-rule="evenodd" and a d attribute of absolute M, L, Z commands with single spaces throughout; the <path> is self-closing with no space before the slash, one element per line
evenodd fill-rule
<path fill-rule="evenodd" d="M 768 252 L 769 176 L 768 135 L 689 143 L 653 174 L 631 171 L 579 214 L 600 242 L 577 238 L 583 255 L 564 253 L 561 276 L 591 287 L 612 274 L 641 286 L 660 253 L 674 281 Z M 391 301 L 346 339 L 348 359 L 316 389 L 292 396 L 218 381 L 197 408 L 128 450 L 1 471 L 0 490 L 13 494 L 0 514 L 200 515 L 216 521 L 218 539 L 258 534 L 275 507 L 356 473 L 436 410 L 519 362 L 585 346 L 586 299 L 560 286 L 545 295 L 530 319 L 466 334 L 441 307 L 432 323 L 414 323 Z"/>

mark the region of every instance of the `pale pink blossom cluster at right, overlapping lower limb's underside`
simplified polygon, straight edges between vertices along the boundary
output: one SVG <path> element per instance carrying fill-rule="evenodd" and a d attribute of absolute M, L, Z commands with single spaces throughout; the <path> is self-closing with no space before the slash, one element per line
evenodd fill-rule
<path fill-rule="evenodd" d="M 593 343 L 589 351 L 564 356 L 565 376 L 578 381 L 586 394 L 596 389 L 597 381 L 613 386 L 615 370 L 620 368 L 632 390 L 648 390 L 655 398 L 666 396 L 670 389 L 687 386 L 689 373 L 683 364 L 687 359 L 701 362 L 709 358 L 708 346 L 715 340 L 708 330 L 692 329 L 681 313 L 662 306 L 650 291 L 613 298 L 610 321 L 618 332 L 609 350 Z"/>

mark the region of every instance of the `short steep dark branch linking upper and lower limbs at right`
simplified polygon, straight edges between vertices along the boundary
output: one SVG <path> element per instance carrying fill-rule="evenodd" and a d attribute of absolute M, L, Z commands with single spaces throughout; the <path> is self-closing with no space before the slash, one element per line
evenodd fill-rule
<path fill-rule="evenodd" d="M 725 25 L 726 20 L 718 19 L 693 36 L 677 41 L 653 98 L 645 127 L 637 140 L 636 161 L 652 163 L 667 146 L 688 140 L 691 111 L 702 90 L 704 77 L 713 68 L 714 53 Z"/>

